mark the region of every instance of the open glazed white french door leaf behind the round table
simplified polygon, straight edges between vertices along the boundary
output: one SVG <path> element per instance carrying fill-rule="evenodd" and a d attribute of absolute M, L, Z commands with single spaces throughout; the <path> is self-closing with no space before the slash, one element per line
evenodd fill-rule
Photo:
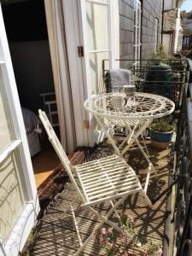
<path fill-rule="evenodd" d="M 113 1 L 85 0 L 86 17 L 84 21 L 84 39 L 89 52 L 89 70 L 91 93 L 102 88 L 102 60 L 107 69 L 113 66 Z M 84 15 L 82 13 L 82 15 Z"/>

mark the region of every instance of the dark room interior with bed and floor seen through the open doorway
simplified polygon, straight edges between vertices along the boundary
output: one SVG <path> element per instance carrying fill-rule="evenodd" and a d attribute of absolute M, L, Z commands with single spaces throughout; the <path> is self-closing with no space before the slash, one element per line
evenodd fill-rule
<path fill-rule="evenodd" d="M 44 109 L 59 133 L 44 1 L 3 3 L 2 9 L 38 187 L 59 164 L 38 119 Z"/>

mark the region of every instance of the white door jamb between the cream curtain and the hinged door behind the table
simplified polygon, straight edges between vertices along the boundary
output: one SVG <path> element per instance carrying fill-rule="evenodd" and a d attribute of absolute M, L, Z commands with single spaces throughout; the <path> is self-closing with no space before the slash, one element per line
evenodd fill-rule
<path fill-rule="evenodd" d="M 86 98 L 85 89 L 87 86 L 84 86 L 84 73 L 82 67 L 82 59 L 84 59 L 84 57 L 80 58 L 78 55 L 78 46 L 81 45 L 78 9 L 76 0 L 63 1 L 62 3 L 77 146 L 84 146 L 89 144 L 88 132 L 86 129 L 83 129 L 84 120 L 86 120 L 84 100 Z"/>

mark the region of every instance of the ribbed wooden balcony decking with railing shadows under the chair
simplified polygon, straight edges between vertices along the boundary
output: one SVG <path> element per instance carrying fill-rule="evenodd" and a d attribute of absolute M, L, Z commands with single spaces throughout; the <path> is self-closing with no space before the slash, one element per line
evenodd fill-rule
<path fill-rule="evenodd" d="M 157 151 L 148 146 L 151 160 L 157 170 L 156 175 L 150 178 L 148 187 L 148 196 L 153 199 L 163 191 L 168 183 L 169 172 L 172 171 L 172 154 L 171 148 L 164 151 Z M 113 153 L 113 149 L 103 143 L 97 147 L 88 157 L 87 160 L 101 158 Z M 126 155 L 128 158 L 128 154 Z M 132 150 L 128 158 L 128 163 L 137 172 L 137 175 L 144 183 L 146 161 L 143 159 L 139 150 Z M 44 218 L 38 221 L 34 240 L 32 241 L 32 250 L 30 255 L 49 256 L 49 255 L 73 255 L 79 247 L 79 241 L 75 232 L 71 214 L 66 218 L 61 218 L 61 212 L 73 200 L 74 191 L 71 183 L 58 195 L 53 201 Z M 97 223 L 97 219 L 84 208 L 77 205 L 75 212 L 79 225 L 82 239 L 86 238 Z M 108 211 L 108 204 L 98 205 L 96 208 L 103 214 Z M 131 195 L 125 203 L 119 208 L 119 212 L 129 213 L 136 217 L 136 228 L 145 237 L 143 247 L 132 246 L 130 242 L 129 255 L 143 255 L 143 248 L 147 247 L 150 241 L 156 241 L 163 246 L 164 228 L 166 220 L 166 195 L 160 201 L 156 202 L 153 207 L 148 207 L 146 201 L 140 195 Z M 106 255 L 94 240 L 84 249 L 82 255 Z"/>

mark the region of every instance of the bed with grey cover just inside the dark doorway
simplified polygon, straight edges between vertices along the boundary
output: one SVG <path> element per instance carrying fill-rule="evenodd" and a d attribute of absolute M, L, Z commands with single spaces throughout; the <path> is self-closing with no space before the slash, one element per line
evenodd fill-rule
<path fill-rule="evenodd" d="M 41 151 L 39 134 L 42 133 L 41 121 L 38 116 L 27 108 L 21 108 L 26 128 L 26 137 L 31 157 Z"/>

